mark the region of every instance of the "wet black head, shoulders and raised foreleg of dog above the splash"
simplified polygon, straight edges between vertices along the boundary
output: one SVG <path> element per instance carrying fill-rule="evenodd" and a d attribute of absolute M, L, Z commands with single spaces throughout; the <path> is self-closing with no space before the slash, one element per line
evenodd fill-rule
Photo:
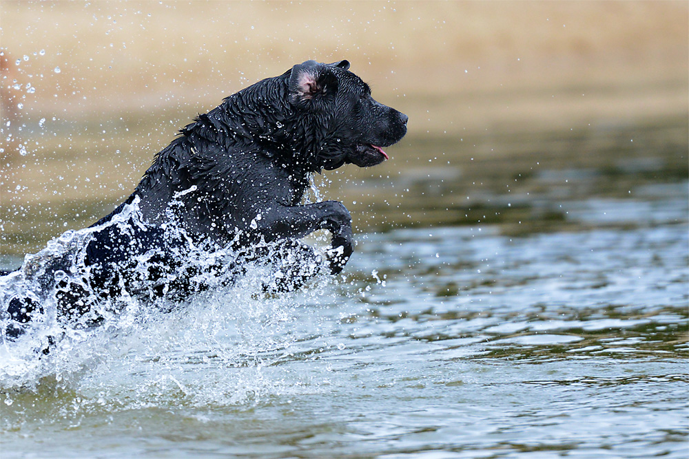
<path fill-rule="evenodd" d="M 308 61 L 198 116 L 158 153 L 136 187 L 145 220 L 163 222 L 173 195 L 196 186 L 181 198 L 185 206 L 176 215 L 191 234 L 223 244 L 240 234 L 245 245 L 261 236 L 271 241 L 325 228 L 348 257 L 345 206 L 298 205 L 309 173 L 378 164 L 384 158 L 367 146 L 386 147 L 407 130 L 407 116 L 373 100 L 348 67 L 347 61 Z M 300 78 L 315 86 L 303 87 Z"/>

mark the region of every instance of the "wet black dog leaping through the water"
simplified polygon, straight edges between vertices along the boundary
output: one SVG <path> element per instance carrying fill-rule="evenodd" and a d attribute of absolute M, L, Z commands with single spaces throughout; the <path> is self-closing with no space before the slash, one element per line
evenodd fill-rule
<path fill-rule="evenodd" d="M 156 155 L 130 198 L 92 226 L 81 252 L 51 259 L 51 266 L 25 264 L 21 275 L 32 271 L 32 285 L 43 292 L 5 300 L 14 322 L 6 335 L 21 334 L 43 301 L 56 303 L 61 317 L 82 317 L 94 299 L 136 290 L 142 259 L 147 295 L 181 299 L 203 289 L 200 271 L 235 269 L 260 257 L 251 248 L 263 242 L 284 240 L 309 256 L 294 239 L 327 229 L 329 266 L 339 273 L 353 250 L 351 217 L 336 201 L 300 205 L 310 175 L 378 164 L 387 158 L 381 147 L 406 132 L 407 116 L 373 100 L 347 61 L 307 61 L 225 98 Z M 198 246 L 245 251 L 229 266 L 223 259 L 185 265 Z M 75 258 L 87 271 L 76 278 L 67 268 Z"/>

